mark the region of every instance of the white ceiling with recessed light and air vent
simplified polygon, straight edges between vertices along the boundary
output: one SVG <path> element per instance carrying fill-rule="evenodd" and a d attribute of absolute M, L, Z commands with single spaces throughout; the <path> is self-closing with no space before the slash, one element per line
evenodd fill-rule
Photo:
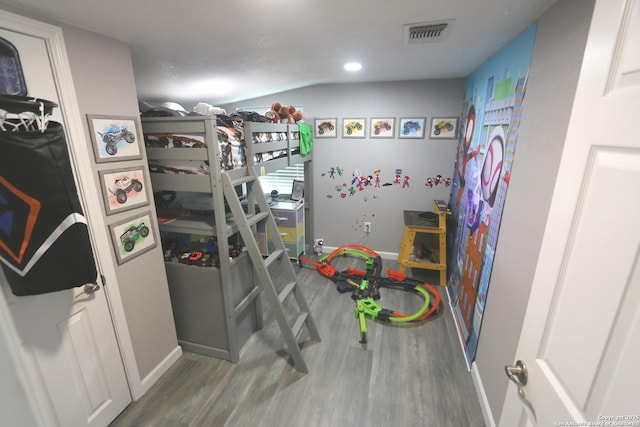
<path fill-rule="evenodd" d="M 223 105 L 323 83 L 464 77 L 555 1 L 0 0 L 0 7 L 128 43 L 140 100 Z M 448 19 L 455 21 L 444 40 L 403 43 L 404 24 Z M 346 72 L 343 64 L 354 60 L 363 69 Z"/>

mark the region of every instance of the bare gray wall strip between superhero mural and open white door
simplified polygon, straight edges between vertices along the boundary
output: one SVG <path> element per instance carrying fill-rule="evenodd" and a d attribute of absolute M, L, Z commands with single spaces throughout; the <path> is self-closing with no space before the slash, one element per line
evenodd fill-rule
<path fill-rule="evenodd" d="M 476 364 L 497 421 L 531 290 L 594 0 L 560 0 L 538 21 Z M 568 25 L 570 23 L 570 25 Z"/>

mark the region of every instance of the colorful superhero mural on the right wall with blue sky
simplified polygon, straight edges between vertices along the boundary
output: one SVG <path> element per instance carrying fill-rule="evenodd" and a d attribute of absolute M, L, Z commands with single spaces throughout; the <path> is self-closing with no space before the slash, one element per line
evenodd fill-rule
<path fill-rule="evenodd" d="M 451 185 L 455 232 L 448 242 L 447 290 L 469 365 L 478 345 L 535 32 L 534 24 L 467 78 Z"/>

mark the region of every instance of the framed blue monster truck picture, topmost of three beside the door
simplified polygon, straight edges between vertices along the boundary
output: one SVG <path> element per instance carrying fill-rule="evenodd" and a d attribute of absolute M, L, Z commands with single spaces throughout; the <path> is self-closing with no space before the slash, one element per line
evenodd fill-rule
<path fill-rule="evenodd" d="M 140 119 L 87 114 L 96 163 L 142 158 Z"/>

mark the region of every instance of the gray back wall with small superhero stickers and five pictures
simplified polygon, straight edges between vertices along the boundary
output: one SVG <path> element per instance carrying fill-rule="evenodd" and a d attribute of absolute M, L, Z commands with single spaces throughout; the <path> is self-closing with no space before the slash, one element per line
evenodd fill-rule
<path fill-rule="evenodd" d="M 273 102 L 303 107 L 305 121 L 315 118 L 364 117 L 459 117 L 464 94 L 463 79 L 421 80 L 362 84 L 319 85 L 225 105 L 236 108 L 270 106 Z M 185 108 L 190 108 L 185 105 Z M 396 123 L 397 127 L 397 123 Z M 403 233 L 402 211 L 431 210 L 434 199 L 449 200 L 450 188 L 444 184 L 430 188 L 428 177 L 451 178 L 457 141 L 423 139 L 342 139 L 316 138 L 313 145 L 311 204 L 315 238 L 326 246 L 358 243 L 379 252 L 397 253 Z M 331 167 L 344 169 L 344 176 L 332 179 Z M 335 187 L 351 184 L 352 173 L 364 176 L 380 169 L 381 184 L 392 182 L 396 169 L 410 177 L 409 187 L 402 185 L 366 187 L 342 199 Z M 362 221 L 372 222 L 372 232 L 362 230 Z M 307 236 L 307 243 L 312 242 Z"/>

